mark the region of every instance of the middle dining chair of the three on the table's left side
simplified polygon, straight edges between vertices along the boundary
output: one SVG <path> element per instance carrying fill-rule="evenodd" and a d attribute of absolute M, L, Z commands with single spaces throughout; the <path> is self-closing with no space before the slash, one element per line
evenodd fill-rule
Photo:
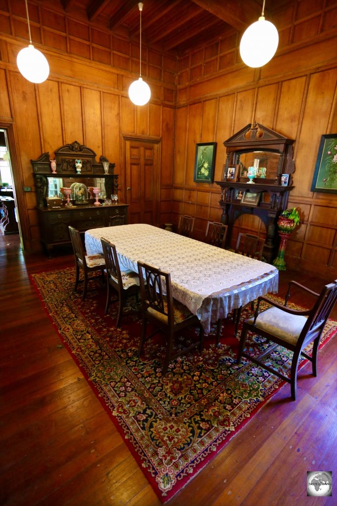
<path fill-rule="evenodd" d="M 122 318 L 125 300 L 133 294 L 136 294 L 138 297 L 139 278 L 136 272 L 130 270 L 121 271 L 115 244 L 112 244 L 103 237 L 101 238 L 101 243 L 107 269 L 107 303 L 105 306 L 105 314 L 108 314 L 111 302 L 111 288 L 114 288 L 118 294 L 118 299 L 115 299 L 114 302 L 117 300 L 119 302 L 116 321 L 116 328 L 118 328 Z"/>

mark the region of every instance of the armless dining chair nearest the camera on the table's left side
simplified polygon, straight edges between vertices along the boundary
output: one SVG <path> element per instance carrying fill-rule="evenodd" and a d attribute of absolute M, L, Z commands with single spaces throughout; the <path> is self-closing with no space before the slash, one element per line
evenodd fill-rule
<path fill-rule="evenodd" d="M 194 348 L 203 349 L 204 329 L 200 320 L 186 306 L 172 297 L 171 275 L 149 264 L 138 262 L 140 296 L 142 304 L 142 329 L 138 349 L 140 356 L 145 342 L 159 330 L 167 334 L 166 355 L 162 373 L 166 374 L 171 360 L 189 353 Z M 166 293 L 166 295 L 165 295 Z M 152 322 L 156 329 L 147 335 L 147 323 Z M 174 351 L 174 334 L 189 327 L 198 325 L 199 340 L 183 350 Z"/>

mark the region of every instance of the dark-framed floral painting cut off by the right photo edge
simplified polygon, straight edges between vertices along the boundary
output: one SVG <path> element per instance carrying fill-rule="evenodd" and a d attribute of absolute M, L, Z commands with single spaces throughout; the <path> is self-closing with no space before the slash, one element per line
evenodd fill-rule
<path fill-rule="evenodd" d="M 311 191 L 337 193 L 337 134 L 321 136 Z"/>

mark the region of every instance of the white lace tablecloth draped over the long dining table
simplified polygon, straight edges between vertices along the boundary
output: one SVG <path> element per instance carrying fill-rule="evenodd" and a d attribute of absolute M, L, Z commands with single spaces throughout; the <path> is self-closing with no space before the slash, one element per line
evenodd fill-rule
<path fill-rule="evenodd" d="M 199 317 L 206 334 L 211 321 L 277 293 L 278 270 L 272 265 L 152 225 L 87 230 L 88 255 L 102 253 L 101 237 L 115 244 L 122 270 L 138 272 L 141 261 L 170 272 L 173 297 Z"/>

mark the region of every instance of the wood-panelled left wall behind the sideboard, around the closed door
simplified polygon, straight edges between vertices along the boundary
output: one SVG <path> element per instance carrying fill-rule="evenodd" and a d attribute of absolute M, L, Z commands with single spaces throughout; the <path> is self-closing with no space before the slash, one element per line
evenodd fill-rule
<path fill-rule="evenodd" d="M 138 77 L 139 46 L 123 33 L 91 26 L 76 9 L 61 3 L 29 2 L 32 39 L 50 64 L 40 85 L 24 79 L 16 65 L 27 46 L 25 4 L 0 4 L 0 128 L 9 129 L 20 225 L 27 250 L 40 248 L 31 159 L 73 141 L 111 162 L 119 174 L 119 198 L 126 200 L 124 137 L 160 143 L 160 199 L 157 222 L 171 219 L 171 190 L 177 60 L 142 51 L 142 75 L 151 86 L 151 102 L 135 107 L 128 87 Z M 24 192 L 24 187 L 32 189 Z"/>

